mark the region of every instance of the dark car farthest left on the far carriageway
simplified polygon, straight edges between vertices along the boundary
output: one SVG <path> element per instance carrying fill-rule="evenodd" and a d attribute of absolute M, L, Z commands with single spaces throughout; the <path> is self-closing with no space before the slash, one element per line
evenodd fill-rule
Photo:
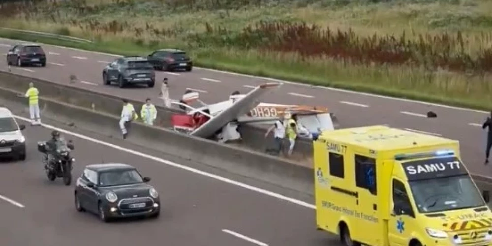
<path fill-rule="evenodd" d="M 37 44 L 18 44 L 8 50 L 7 64 L 25 66 L 40 64 L 46 66 L 46 54 Z"/>

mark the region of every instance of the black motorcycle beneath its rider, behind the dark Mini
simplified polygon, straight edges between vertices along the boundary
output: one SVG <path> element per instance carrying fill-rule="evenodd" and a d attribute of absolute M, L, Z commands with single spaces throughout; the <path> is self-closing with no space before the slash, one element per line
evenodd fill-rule
<path fill-rule="evenodd" d="M 74 150 L 73 141 L 68 140 L 68 143 L 64 139 L 57 141 L 57 154 L 53 155 L 52 163 L 49 163 L 46 141 L 38 142 L 37 150 L 44 154 L 44 169 L 48 180 L 54 181 L 56 178 L 63 178 L 63 184 L 70 185 L 72 183 L 72 165 L 75 162 L 75 158 L 70 155 L 70 152 Z"/>

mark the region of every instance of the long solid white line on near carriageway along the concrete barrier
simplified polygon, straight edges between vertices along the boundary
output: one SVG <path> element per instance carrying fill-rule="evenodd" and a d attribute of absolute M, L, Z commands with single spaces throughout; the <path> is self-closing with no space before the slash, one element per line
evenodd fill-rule
<path fill-rule="evenodd" d="M 14 117 L 16 119 L 19 119 L 19 120 L 22 120 L 22 121 L 25 121 L 25 122 L 29 122 L 29 123 L 31 122 L 31 120 L 29 120 L 28 118 L 22 117 L 22 116 L 14 115 Z M 91 137 L 84 136 L 84 135 L 81 135 L 81 134 L 78 134 L 78 133 L 75 133 L 75 132 L 67 131 L 65 129 L 58 128 L 58 127 L 55 127 L 55 126 L 52 126 L 52 125 L 48 125 L 48 124 L 45 124 L 45 123 L 41 123 L 41 125 L 44 126 L 45 128 L 48 128 L 48 129 L 51 129 L 51 130 L 57 130 L 57 131 L 62 132 L 64 134 L 68 134 L 68 135 L 72 135 L 74 137 L 85 139 L 87 141 L 91 141 L 93 143 L 97 143 L 97 144 L 100 144 L 100 145 L 104 145 L 106 147 L 110 147 L 110 148 L 113 148 L 113 149 L 116 149 L 116 150 L 119 150 L 119 151 L 123 151 L 123 152 L 126 152 L 128 154 L 134 154 L 134 155 L 137 155 L 137 156 L 146 158 L 146 159 L 150 159 L 150 160 L 153 160 L 153 161 L 156 161 L 156 162 L 160 162 L 160 163 L 163 163 L 163 164 L 166 164 L 166 165 L 169 165 L 169 166 L 173 166 L 173 167 L 180 168 L 180 169 L 183 169 L 183 170 L 192 172 L 192 173 L 196 173 L 196 174 L 199 174 L 199 175 L 202 175 L 202 176 L 211 178 L 211 179 L 219 180 L 219 181 L 222 181 L 224 183 L 233 184 L 233 185 L 236 185 L 236 186 L 245 188 L 245 189 L 249 189 L 249 190 L 254 191 L 254 192 L 258 192 L 260 194 L 264 194 L 264 195 L 267 195 L 267 196 L 275 197 L 277 199 L 284 200 L 284 201 L 290 202 L 290 203 L 294 203 L 294 204 L 297 204 L 297 205 L 300 205 L 300 206 L 303 206 L 303 207 L 306 207 L 306 208 L 316 209 L 316 206 L 314 206 L 312 204 L 309 204 L 307 202 L 303 202 L 303 201 L 300 201 L 300 200 L 297 200 L 297 199 L 294 199 L 294 198 L 291 198 L 291 197 L 288 197 L 288 196 L 284 196 L 284 195 L 281 195 L 281 194 L 278 194 L 278 193 L 275 193 L 275 192 L 272 192 L 272 191 L 269 191 L 269 190 L 266 190 L 266 189 L 258 188 L 258 187 L 255 187 L 255 186 L 252 186 L 252 185 L 249 185 L 249 184 L 244 184 L 244 183 L 241 183 L 241 182 L 238 182 L 238 181 L 235 181 L 235 180 L 231 180 L 231 179 L 228 179 L 228 178 L 224 178 L 224 177 L 221 177 L 221 176 L 212 174 L 212 173 L 207 173 L 207 172 L 204 172 L 204 171 L 201 171 L 201 170 L 198 170 L 198 169 L 194 169 L 194 168 L 191 168 L 191 167 L 188 167 L 188 166 L 185 166 L 185 165 L 176 163 L 176 162 L 172 162 L 170 160 L 165 160 L 165 159 L 162 159 L 162 158 L 159 158 L 159 157 L 155 157 L 155 156 L 150 155 L 150 154 L 144 154 L 144 153 L 141 153 L 141 152 L 138 152 L 138 151 L 134 151 L 134 150 L 130 150 L 130 149 L 127 149 L 127 148 L 123 148 L 123 147 L 118 146 L 118 145 L 110 144 L 110 143 L 107 143 L 107 142 L 104 142 L 104 141 L 101 141 L 101 140 L 98 140 L 98 139 L 95 139 L 95 138 L 91 138 Z"/>

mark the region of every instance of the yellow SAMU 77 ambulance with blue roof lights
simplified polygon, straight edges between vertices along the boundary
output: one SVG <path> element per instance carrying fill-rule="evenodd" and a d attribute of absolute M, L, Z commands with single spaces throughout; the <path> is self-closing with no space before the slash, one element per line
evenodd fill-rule
<path fill-rule="evenodd" d="M 314 145 L 316 225 L 346 246 L 492 245 L 456 140 L 387 126 L 323 132 Z"/>

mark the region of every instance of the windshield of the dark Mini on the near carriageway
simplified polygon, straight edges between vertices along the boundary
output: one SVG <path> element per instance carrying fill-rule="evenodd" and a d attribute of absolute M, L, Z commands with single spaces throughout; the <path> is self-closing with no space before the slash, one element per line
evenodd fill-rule
<path fill-rule="evenodd" d="M 113 170 L 99 175 L 99 186 L 115 186 L 142 183 L 142 176 L 135 169 Z"/>

